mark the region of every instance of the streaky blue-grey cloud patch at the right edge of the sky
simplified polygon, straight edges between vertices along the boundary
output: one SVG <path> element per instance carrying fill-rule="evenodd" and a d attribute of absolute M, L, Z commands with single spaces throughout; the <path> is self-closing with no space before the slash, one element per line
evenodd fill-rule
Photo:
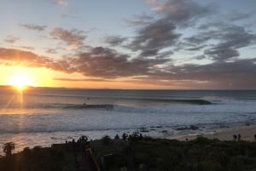
<path fill-rule="evenodd" d="M 228 25 L 223 22 L 209 25 L 209 29 L 198 34 L 186 37 L 188 43 L 187 50 L 193 51 L 205 48 L 204 54 L 210 56 L 212 60 L 229 60 L 239 56 L 238 49 L 256 43 L 256 35 L 246 31 L 242 26 Z M 207 41 L 217 42 L 209 44 Z M 189 44 L 191 43 L 191 45 Z M 193 47 L 198 46 L 199 47 Z"/>

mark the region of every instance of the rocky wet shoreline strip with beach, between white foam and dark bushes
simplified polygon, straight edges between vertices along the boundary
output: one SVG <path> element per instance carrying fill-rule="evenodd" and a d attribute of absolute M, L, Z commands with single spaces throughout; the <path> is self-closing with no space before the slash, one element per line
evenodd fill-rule
<path fill-rule="evenodd" d="M 190 127 L 195 127 L 193 130 Z M 180 128 L 180 130 L 177 130 Z M 9 134 L 9 140 L 15 142 L 15 152 L 22 151 L 25 147 L 33 148 L 34 146 L 50 146 L 55 143 L 64 143 L 65 140 L 79 139 L 80 135 L 87 135 L 90 140 L 101 140 L 102 136 L 109 135 L 112 139 L 115 134 L 119 134 L 119 137 L 123 133 L 132 134 L 133 132 L 139 132 L 143 134 L 143 136 L 149 136 L 153 139 L 166 139 L 166 140 L 195 140 L 197 137 L 202 136 L 207 139 L 218 139 L 218 140 L 234 140 L 233 134 L 241 134 L 241 140 L 254 141 L 254 134 L 256 134 L 256 123 L 212 123 L 212 124 L 195 124 L 190 126 L 179 126 L 179 127 L 171 127 L 171 126 L 163 126 L 163 127 L 155 127 L 155 128 L 135 128 L 135 129 L 127 129 L 127 130 L 106 130 L 105 133 L 101 135 L 93 133 L 97 135 L 97 138 L 91 136 L 90 132 L 68 132 L 68 133 L 53 133 L 53 134 Z M 98 133 L 98 132 L 97 132 Z M 110 134 L 111 133 L 111 134 Z M 29 136 L 28 136 L 29 135 Z M 23 137 L 26 136 L 26 139 Z M 35 141 L 34 137 L 40 139 L 39 141 Z M 13 137 L 13 138 L 12 138 Z M 44 137 L 44 139 L 43 139 Z M 41 140 L 42 139 L 42 140 Z M 0 140 L 0 145 L 3 145 L 6 140 Z M 32 145 L 29 145 L 27 142 L 32 142 Z M 0 155 L 3 152 L 0 151 Z"/>

